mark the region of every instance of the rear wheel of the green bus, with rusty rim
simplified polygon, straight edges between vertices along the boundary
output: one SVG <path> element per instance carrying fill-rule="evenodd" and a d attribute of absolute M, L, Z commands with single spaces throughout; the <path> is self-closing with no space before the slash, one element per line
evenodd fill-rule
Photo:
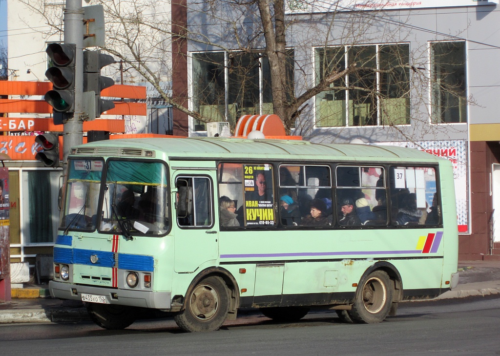
<path fill-rule="evenodd" d="M 394 288 L 384 271 L 371 272 L 359 283 L 348 315 L 356 322 L 375 323 L 385 319 L 392 304 Z"/>

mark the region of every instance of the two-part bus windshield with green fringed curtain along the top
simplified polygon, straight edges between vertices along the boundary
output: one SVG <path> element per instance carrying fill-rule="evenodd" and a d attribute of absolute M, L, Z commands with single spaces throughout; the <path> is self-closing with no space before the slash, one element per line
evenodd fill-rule
<path fill-rule="evenodd" d="M 98 226 L 100 231 L 126 236 L 165 234 L 168 229 L 166 166 L 152 161 L 109 159 L 99 210 L 103 166 L 102 160 L 69 161 L 60 228 L 95 230 Z"/>

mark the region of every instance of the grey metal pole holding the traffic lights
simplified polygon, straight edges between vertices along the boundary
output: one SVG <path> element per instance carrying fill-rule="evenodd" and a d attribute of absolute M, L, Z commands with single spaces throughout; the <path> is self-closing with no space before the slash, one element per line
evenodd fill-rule
<path fill-rule="evenodd" d="M 83 143 L 83 8 L 81 0 L 66 0 L 64 43 L 76 44 L 74 78 L 74 114 L 63 125 L 62 171 L 67 170 L 71 147 Z"/>

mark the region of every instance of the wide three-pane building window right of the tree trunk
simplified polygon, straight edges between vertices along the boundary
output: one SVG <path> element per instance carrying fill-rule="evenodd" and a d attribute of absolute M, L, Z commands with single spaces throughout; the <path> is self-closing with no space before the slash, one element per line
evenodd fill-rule
<path fill-rule="evenodd" d="M 409 124 L 409 45 L 316 48 L 316 83 L 354 64 L 358 70 L 315 96 L 316 127 Z"/>

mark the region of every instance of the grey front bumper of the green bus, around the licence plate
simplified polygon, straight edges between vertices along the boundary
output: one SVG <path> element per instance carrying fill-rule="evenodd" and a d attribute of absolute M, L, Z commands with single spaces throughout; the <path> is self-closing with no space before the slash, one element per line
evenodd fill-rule
<path fill-rule="evenodd" d="M 50 295 L 54 298 L 81 300 L 81 293 L 103 295 L 106 304 L 139 306 L 153 309 L 170 308 L 169 291 L 144 291 L 116 288 L 102 288 L 89 285 L 62 283 L 51 280 L 48 282 Z"/>

